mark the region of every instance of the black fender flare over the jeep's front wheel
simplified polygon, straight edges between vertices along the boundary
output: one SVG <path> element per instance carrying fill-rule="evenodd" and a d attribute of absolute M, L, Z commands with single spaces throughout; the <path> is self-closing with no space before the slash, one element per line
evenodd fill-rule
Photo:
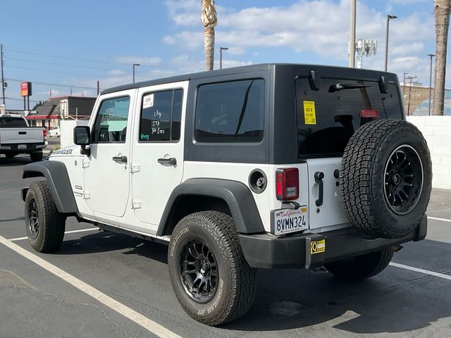
<path fill-rule="evenodd" d="M 30 163 L 23 167 L 22 178 L 45 177 L 56 208 L 60 213 L 77 213 L 78 208 L 70 187 L 66 165 L 58 161 Z"/>

